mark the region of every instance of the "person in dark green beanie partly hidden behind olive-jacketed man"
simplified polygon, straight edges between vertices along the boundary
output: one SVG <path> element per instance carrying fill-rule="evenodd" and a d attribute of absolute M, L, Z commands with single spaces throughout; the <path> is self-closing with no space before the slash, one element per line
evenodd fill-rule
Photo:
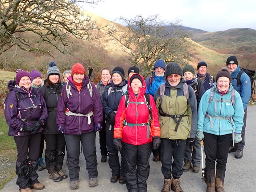
<path fill-rule="evenodd" d="M 183 70 L 183 76 L 186 79 L 186 84 L 190 85 L 195 92 L 196 100 L 197 100 L 197 107 L 199 106 L 200 100 L 202 95 L 204 94 L 205 90 L 201 80 L 195 78 L 195 71 L 192 65 L 186 65 Z M 193 146 L 193 152 L 191 150 Z M 191 156 L 192 153 L 192 156 Z M 193 172 L 199 172 L 200 164 L 201 164 L 201 146 L 198 140 L 194 140 L 193 143 L 190 143 L 189 140 L 186 141 L 186 152 L 184 156 L 184 165 L 182 167 L 183 171 L 189 171 L 191 163 L 193 164 Z"/>

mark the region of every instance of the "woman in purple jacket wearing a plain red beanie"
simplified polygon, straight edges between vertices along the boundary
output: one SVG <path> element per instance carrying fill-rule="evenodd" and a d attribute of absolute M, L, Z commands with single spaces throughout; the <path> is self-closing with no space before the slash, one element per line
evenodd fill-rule
<path fill-rule="evenodd" d="M 57 124 L 66 140 L 70 189 L 78 188 L 80 143 L 89 174 L 89 187 L 94 187 L 98 185 L 95 138 L 96 131 L 102 129 L 102 104 L 82 64 L 74 64 L 68 80 L 58 101 Z"/>

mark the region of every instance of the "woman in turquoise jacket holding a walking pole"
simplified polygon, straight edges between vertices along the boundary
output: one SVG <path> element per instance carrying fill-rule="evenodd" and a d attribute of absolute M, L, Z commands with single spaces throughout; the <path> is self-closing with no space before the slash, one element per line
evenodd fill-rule
<path fill-rule="evenodd" d="M 222 68 L 216 84 L 201 98 L 198 108 L 197 140 L 204 141 L 206 192 L 223 192 L 227 155 L 232 133 L 242 140 L 244 110 L 241 97 L 231 85 L 231 72 Z M 215 176 L 215 161 L 216 176 Z"/>

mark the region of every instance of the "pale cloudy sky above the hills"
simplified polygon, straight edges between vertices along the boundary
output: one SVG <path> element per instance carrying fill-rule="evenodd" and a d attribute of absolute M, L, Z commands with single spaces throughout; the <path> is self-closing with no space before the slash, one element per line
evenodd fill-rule
<path fill-rule="evenodd" d="M 118 20 L 120 16 L 130 19 L 157 14 L 163 21 L 180 20 L 183 26 L 208 32 L 256 29 L 256 0 L 103 0 L 83 9 L 120 24 L 124 24 Z"/>

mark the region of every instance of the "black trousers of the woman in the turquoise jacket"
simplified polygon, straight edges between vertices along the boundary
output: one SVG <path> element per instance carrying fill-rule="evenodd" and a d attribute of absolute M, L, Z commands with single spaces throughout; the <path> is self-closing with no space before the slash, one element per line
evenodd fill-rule
<path fill-rule="evenodd" d="M 203 132 L 204 134 L 204 151 L 205 166 L 207 169 L 215 169 L 215 161 L 217 169 L 226 169 L 227 155 L 232 134 L 217 136 L 214 134 Z"/>

